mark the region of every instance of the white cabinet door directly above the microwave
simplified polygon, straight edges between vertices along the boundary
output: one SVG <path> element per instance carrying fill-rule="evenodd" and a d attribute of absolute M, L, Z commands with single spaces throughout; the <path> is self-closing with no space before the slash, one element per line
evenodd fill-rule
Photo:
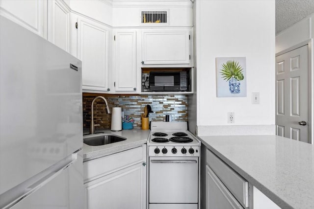
<path fill-rule="evenodd" d="M 189 64 L 189 30 L 144 31 L 142 64 Z"/>

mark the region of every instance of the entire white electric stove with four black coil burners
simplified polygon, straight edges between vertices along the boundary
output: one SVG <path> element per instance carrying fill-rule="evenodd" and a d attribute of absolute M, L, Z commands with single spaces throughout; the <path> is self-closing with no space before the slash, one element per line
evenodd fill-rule
<path fill-rule="evenodd" d="M 152 121 L 147 146 L 149 209 L 198 209 L 201 142 L 187 123 Z"/>

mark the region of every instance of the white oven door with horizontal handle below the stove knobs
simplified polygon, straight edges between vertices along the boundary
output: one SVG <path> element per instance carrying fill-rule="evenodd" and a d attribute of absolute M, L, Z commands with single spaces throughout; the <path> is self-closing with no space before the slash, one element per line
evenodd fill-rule
<path fill-rule="evenodd" d="M 150 157 L 149 203 L 198 203 L 198 157 Z"/>

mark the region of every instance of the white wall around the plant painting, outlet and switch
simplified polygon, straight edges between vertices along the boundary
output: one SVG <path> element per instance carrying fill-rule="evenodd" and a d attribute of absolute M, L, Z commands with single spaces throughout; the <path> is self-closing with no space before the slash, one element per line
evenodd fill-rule
<path fill-rule="evenodd" d="M 196 0 L 194 3 L 197 126 L 273 126 L 275 2 Z M 246 57 L 246 97 L 216 97 L 216 57 Z M 252 104 L 252 92 L 260 92 L 260 104 Z M 228 112 L 235 112 L 234 124 L 228 123 Z"/>

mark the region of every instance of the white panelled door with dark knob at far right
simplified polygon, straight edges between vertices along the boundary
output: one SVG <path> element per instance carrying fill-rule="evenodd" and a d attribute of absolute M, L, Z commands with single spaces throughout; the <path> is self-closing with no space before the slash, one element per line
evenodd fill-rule
<path fill-rule="evenodd" d="M 276 133 L 304 142 L 309 142 L 308 69 L 308 45 L 276 57 Z"/>

